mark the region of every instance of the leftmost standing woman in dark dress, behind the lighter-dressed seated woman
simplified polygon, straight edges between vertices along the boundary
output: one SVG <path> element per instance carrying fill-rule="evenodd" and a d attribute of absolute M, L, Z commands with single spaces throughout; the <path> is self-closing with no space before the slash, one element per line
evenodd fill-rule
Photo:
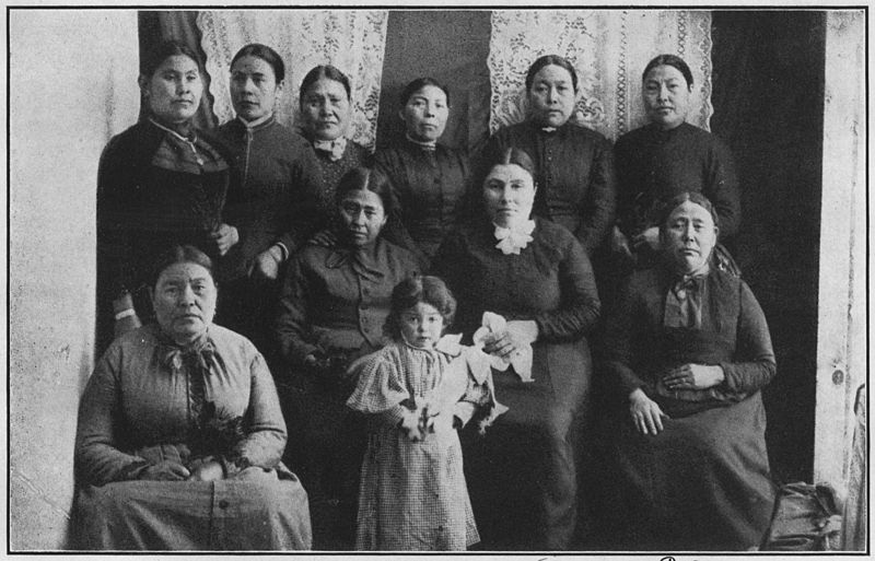
<path fill-rule="evenodd" d="M 238 241 L 222 222 L 229 163 L 192 124 L 203 93 L 200 58 L 176 42 L 142 60 L 147 106 L 114 137 L 97 174 L 97 349 L 152 315 L 145 290 L 156 256 L 190 244 L 212 258 Z M 115 319 L 115 334 L 114 334 Z"/>

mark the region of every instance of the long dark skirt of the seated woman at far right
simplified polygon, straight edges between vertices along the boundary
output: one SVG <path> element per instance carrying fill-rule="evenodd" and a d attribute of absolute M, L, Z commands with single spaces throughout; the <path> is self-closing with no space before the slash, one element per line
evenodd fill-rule
<path fill-rule="evenodd" d="M 732 551 L 760 544 L 774 486 L 759 393 L 665 420 L 655 436 L 638 433 L 628 414 L 615 425 L 626 549 Z"/>

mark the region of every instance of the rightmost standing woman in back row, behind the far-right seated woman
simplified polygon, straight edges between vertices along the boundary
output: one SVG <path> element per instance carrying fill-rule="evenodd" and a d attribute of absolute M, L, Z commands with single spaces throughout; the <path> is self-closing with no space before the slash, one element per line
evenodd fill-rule
<path fill-rule="evenodd" d="M 722 239 L 738 231 L 742 209 L 732 153 L 710 132 L 686 122 L 692 72 L 675 55 L 660 55 L 644 73 L 643 100 L 650 124 L 617 140 L 617 226 L 612 247 L 634 256 L 639 268 L 657 262 L 660 200 L 701 192 L 714 204 Z M 737 268 L 718 246 L 715 265 Z"/>

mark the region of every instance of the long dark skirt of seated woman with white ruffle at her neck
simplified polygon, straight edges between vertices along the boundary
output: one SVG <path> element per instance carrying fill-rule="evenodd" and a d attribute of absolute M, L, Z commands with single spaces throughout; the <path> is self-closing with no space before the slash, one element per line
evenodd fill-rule
<path fill-rule="evenodd" d="M 580 340 L 534 351 L 534 382 L 493 371 L 495 397 L 509 410 L 485 436 L 472 426 L 462 434 L 478 549 L 568 550 L 575 537 L 590 349 Z"/>

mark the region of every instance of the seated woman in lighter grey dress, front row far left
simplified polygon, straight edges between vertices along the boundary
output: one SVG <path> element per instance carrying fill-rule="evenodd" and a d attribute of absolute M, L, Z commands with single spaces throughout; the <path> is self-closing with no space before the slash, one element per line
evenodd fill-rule
<path fill-rule="evenodd" d="M 273 379 L 248 340 L 212 324 L 210 258 L 175 247 L 150 287 L 158 323 L 113 342 L 80 404 L 79 547 L 310 549 Z"/>

